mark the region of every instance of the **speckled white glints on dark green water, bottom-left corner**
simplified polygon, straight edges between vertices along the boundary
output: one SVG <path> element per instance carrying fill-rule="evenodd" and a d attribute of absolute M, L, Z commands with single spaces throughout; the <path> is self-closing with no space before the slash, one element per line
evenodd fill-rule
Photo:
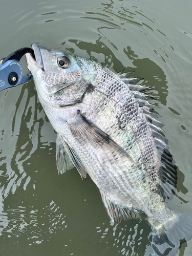
<path fill-rule="evenodd" d="M 32 206 L 30 208 L 33 208 Z M 18 206 L 17 209 L 6 209 L 0 214 L 1 226 L 0 236 L 7 232 L 8 237 L 16 237 L 28 234 L 28 242 L 41 243 L 49 240 L 51 234 L 58 229 L 65 229 L 65 216 L 60 212 L 59 207 L 50 202 L 48 206 L 40 209 L 28 209 Z"/>

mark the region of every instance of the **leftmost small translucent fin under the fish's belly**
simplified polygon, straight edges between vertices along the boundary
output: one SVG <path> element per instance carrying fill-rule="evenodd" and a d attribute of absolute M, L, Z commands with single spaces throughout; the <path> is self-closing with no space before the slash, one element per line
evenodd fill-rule
<path fill-rule="evenodd" d="M 63 174 L 67 170 L 74 168 L 74 164 L 72 163 L 66 151 L 66 148 L 61 141 L 59 134 L 57 134 L 57 140 L 56 140 L 56 161 L 57 161 L 57 169 L 60 174 Z"/>

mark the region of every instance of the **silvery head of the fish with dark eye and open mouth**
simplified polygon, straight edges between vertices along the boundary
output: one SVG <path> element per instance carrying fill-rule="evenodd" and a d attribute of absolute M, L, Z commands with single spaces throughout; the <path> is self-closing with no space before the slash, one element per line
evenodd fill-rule
<path fill-rule="evenodd" d="M 65 106 L 81 102 L 89 85 L 97 85 L 96 62 L 60 49 L 32 45 L 26 54 L 40 101 Z"/>

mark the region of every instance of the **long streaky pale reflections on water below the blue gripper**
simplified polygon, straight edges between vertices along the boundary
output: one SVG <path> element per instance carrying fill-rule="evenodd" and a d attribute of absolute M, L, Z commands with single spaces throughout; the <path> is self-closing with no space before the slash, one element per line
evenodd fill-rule
<path fill-rule="evenodd" d="M 29 94 L 30 97 L 28 97 Z M 1 161 L 1 167 L 4 171 L 4 198 L 8 196 L 10 190 L 14 194 L 16 188 L 21 184 L 24 190 L 26 190 L 31 179 L 24 170 L 24 164 L 30 159 L 38 146 L 38 138 L 34 136 L 35 129 L 39 127 L 38 121 L 36 120 L 37 111 L 32 114 L 32 108 L 34 110 L 35 105 L 37 106 L 35 91 L 33 89 L 26 90 L 24 86 L 17 102 L 15 102 L 15 113 L 12 118 L 12 124 L 10 123 L 11 120 L 9 120 L 9 126 L 6 127 L 7 125 L 5 125 L 5 129 L 3 129 L 6 132 L 2 134 L 2 143 L 8 140 L 10 134 L 12 137 L 11 148 L 5 148 L 2 151 L 2 157 L 5 156 Z M 23 122 L 25 125 L 22 125 Z"/>

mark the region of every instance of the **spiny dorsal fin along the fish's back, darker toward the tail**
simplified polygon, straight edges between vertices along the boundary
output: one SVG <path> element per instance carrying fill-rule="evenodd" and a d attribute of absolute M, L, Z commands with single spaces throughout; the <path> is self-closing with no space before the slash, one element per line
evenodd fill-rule
<path fill-rule="evenodd" d="M 157 120 L 158 115 L 153 113 L 153 110 L 155 108 L 158 108 L 158 106 L 152 105 L 150 102 L 148 102 L 148 98 L 155 98 L 143 93 L 151 89 L 145 86 L 138 85 L 142 78 L 129 77 L 129 75 L 132 73 L 133 72 L 127 72 L 123 74 L 118 73 L 118 76 L 123 82 L 127 84 L 129 89 L 132 91 L 133 95 L 139 103 L 140 108 L 145 114 L 147 123 L 151 127 L 156 148 L 159 152 L 161 159 L 161 166 L 159 168 L 159 177 L 161 180 L 161 184 L 159 187 L 159 192 L 161 195 L 163 195 L 164 199 L 171 199 L 176 191 L 177 166 L 175 165 L 173 156 L 168 151 L 168 140 L 162 135 L 162 127 L 164 126 L 164 124 L 159 122 Z"/>

